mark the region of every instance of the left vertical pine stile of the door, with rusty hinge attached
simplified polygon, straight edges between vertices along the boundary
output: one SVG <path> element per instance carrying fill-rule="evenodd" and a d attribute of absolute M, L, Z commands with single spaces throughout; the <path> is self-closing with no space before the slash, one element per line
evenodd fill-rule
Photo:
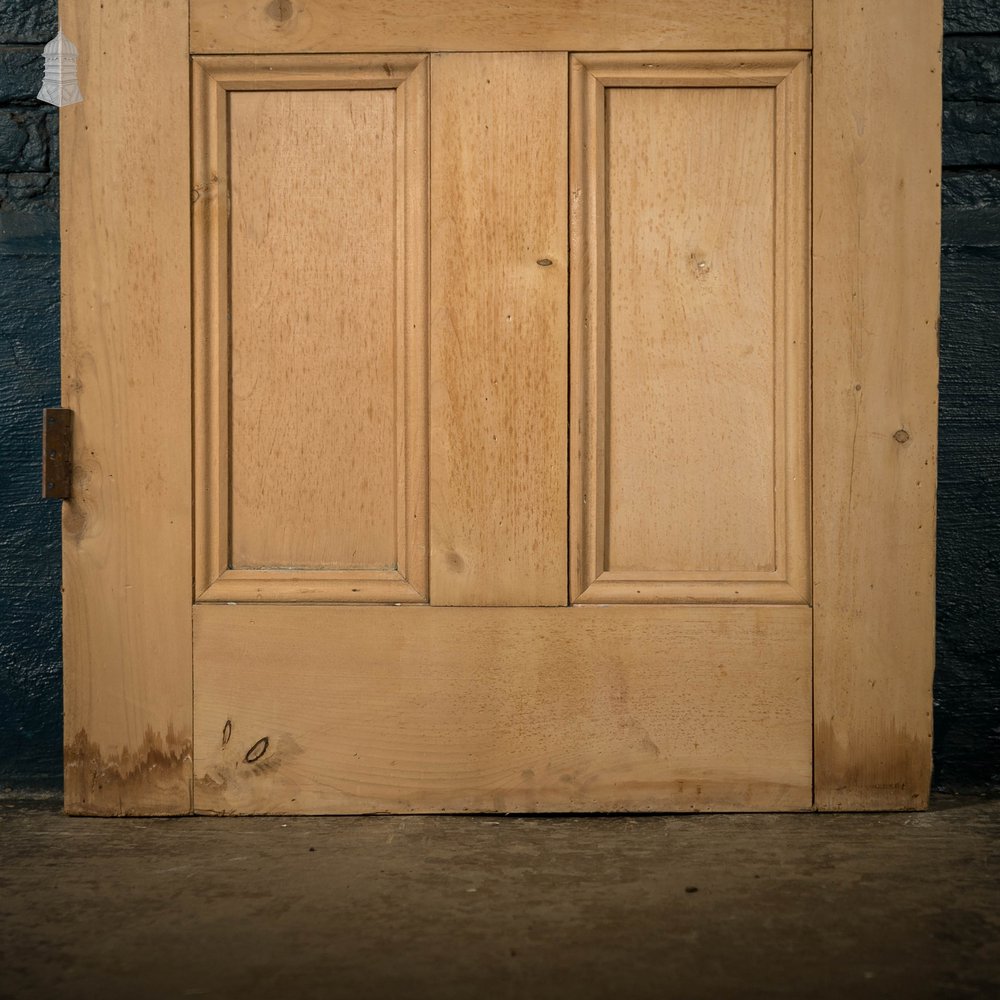
<path fill-rule="evenodd" d="M 65 805 L 191 810 L 187 4 L 63 3 Z"/>

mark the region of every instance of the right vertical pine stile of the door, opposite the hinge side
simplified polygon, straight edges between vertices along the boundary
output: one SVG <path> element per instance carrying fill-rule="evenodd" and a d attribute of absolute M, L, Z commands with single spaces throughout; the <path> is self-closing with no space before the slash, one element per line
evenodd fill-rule
<path fill-rule="evenodd" d="M 926 805 L 941 0 L 816 0 L 815 801 Z"/>

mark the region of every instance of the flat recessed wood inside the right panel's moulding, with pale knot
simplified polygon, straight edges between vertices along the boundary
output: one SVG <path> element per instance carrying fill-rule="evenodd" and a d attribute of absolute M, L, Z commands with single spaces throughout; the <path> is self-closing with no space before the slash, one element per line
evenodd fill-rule
<path fill-rule="evenodd" d="M 607 568 L 773 569 L 774 99 L 606 101 Z"/>

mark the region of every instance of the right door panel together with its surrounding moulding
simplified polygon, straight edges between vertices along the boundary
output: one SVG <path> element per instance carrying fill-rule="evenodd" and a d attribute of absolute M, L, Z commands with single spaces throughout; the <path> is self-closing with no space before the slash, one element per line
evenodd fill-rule
<path fill-rule="evenodd" d="M 573 81 L 573 599 L 808 601 L 808 61 Z"/>

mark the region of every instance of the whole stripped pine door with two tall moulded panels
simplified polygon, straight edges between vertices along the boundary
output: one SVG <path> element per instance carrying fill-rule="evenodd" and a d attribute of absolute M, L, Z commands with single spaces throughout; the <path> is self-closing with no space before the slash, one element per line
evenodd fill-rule
<path fill-rule="evenodd" d="M 72 6 L 68 808 L 925 801 L 932 5 Z"/>

